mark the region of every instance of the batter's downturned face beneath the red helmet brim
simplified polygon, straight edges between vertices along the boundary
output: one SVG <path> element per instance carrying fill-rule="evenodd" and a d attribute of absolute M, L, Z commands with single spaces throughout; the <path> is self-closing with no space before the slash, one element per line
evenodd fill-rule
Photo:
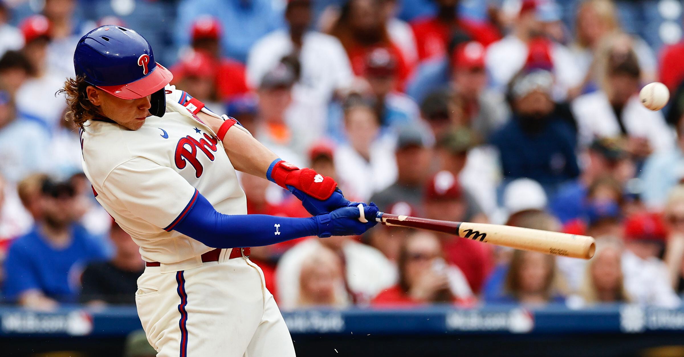
<path fill-rule="evenodd" d="M 99 106 L 102 115 L 129 130 L 138 130 L 150 115 L 150 96 L 121 99 L 94 87 L 88 87 L 88 98 Z"/>

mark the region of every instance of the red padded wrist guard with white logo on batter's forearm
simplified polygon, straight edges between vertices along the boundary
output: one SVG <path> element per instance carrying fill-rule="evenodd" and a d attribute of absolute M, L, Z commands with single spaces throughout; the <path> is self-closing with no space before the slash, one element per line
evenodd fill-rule
<path fill-rule="evenodd" d="M 306 195 L 320 200 L 330 198 L 337 188 L 337 182 L 332 180 L 332 177 L 320 175 L 312 169 L 300 169 L 279 158 L 271 163 L 266 178 L 286 190 L 297 188 Z"/>

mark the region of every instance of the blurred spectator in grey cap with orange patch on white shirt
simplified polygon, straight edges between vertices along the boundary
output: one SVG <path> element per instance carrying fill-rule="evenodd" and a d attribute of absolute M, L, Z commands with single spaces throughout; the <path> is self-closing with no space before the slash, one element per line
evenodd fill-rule
<path fill-rule="evenodd" d="M 252 134 L 263 145 L 277 152 L 282 160 L 304 167 L 306 162 L 302 154 L 306 150 L 306 143 L 299 140 L 300 132 L 293 131 L 289 125 L 291 120 L 296 119 L 288 111 L 292 103 L 292 86 L 296 80 L 293 68 L 282 62 L 263 76 L 257 91 L 257 128 Z"/>

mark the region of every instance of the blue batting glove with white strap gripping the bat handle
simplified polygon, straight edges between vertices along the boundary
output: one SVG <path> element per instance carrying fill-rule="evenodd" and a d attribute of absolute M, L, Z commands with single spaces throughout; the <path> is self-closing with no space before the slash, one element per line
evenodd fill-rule
<path fill-rule="evenodd" d="M 315 216 L 318 236 L 328 238 L 331 235 L 360 235 L 378 224 L 375 219 L 378 215 L 378 206 L 375 203 L 358 205 L 360 208 L 338 208 L 330 213 Z"/>

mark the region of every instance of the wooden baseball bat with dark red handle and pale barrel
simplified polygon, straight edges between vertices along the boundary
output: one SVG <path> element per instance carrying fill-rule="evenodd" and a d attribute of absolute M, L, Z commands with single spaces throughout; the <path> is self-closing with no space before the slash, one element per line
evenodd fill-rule
<path fill-rule="evenodd" d="M 596 250 L 594 238 L 587 235 L 576 235 L 511 227 L 506 225 L 489 225 L 486 223 L 451 222 L 396 214 L 378 213 L 376 218 L 383 225 L 428 229 L 441 233 L 458 235 L 461 238 L 478 240 L 497 246 L 536 251 L 541 253 L 562 255 L 564 257 L 591 259 Z"/>

